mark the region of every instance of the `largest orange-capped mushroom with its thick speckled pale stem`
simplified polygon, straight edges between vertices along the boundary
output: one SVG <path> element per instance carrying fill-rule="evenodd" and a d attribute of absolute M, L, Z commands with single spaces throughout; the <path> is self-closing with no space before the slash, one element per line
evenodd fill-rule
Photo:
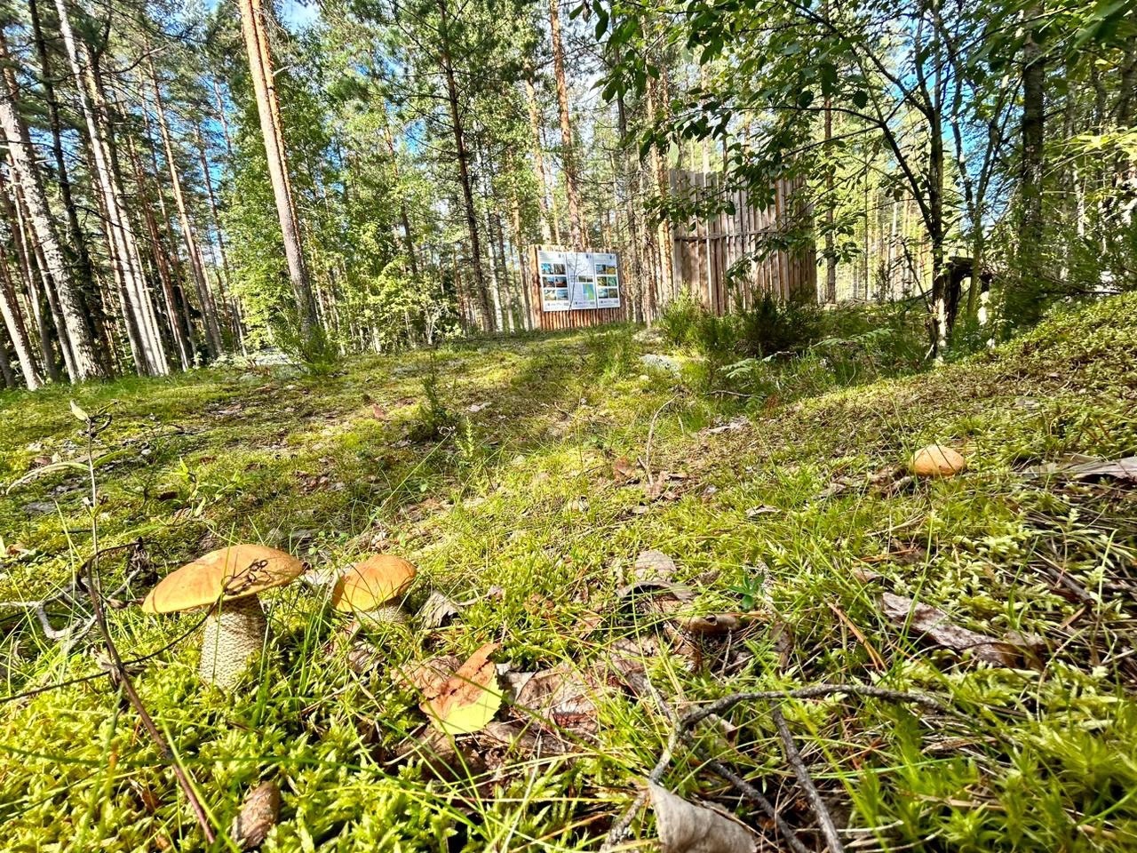
<path fill-rule="evenodd" d="M 234 545 L 210 552 L 171 572 L 142 602 L 147 613 L 209 607 L 201 638 L 201 678 L 223 689 L 236 684 L 268 630 L 257 597 L 291 583 L 304 563 L 263 545 Z"/>

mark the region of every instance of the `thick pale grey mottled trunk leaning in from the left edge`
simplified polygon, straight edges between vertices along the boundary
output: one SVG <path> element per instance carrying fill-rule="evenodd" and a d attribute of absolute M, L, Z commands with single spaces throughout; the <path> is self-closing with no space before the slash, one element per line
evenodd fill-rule
<path fill-rule="evenodd" d="M 2 50 L 0 59 L 7 60 L 8 50 L 3 43 L 2 33 L 0 33 L 0 50 Z M 9 89 L 7 78 L 3 85 L 0 85 L 0 127 L 3 129 L 8 140 L 8 151 L 15 166 L 15 177 L 23 189 L 24 204 L 27 205 L 31 225 L 43 255 L 44 274 L 51 276 L 56 285 L 66 334 L 74 356 L 75 372 L 72 374 L 72 381 L 105 376 L 107 372 L 96 356 L 94 343 L 83 320 L 83 303 L 70 276 L 59 237 L 56 233 L 55 220 L 48 207 L 48 199 L 35 163 L 35 152 L 16 109 L 16 93 Z"/>

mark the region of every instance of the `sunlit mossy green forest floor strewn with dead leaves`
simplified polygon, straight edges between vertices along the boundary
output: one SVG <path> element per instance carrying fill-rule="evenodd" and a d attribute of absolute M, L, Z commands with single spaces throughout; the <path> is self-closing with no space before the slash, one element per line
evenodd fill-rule
<path fill-rule="evenodd" d="M 133 679 L 215 850 L 265 779 L 283 800 L 266 851 L 597 850 L 667 750 L 669 790 L 785 848 L 733 772 L 821 848 L 779 711 L 849 850 L 1134 850 L 1137 491 L 1029 469 L 1137 453 L 1135 316 L 1114 298 L 957 364 L 746 409 L 645 370 L 666 348 L 630 329 L 0 396 L 0 848 L 208 846 L 107 679 L 11 698 L 100 671 L 96 631 L 49 639 L 11 604 L 50 599 L 92 550 L 90 483 L 59 464 L 86 454 L 74 399 L 110 417 L 99 544 L 141 539 L 149 561 L 118 590 L 126 561 L 102 562 L 110 629 L 124 656 L 157 653 Z M 906 477 L 933 441 L 968 471 Z M 404 555 L 415 615 L 351 637 L 326 587 L 293 583 L 265 596 L 273 638 L 242 685 L 207 689 L 175 643 L 190 618 L 134 603 L 236 541 L 325 573 Z M 432 591 L 465 603 L 441 627 L 417 613 Z M 506 701 L 447 743 L 400 668 L 488 643 Z M 833 682 L 937 705 L 850 688 L 680 719 Z M 623 848 L 656 830 L 637 811 Z"/>

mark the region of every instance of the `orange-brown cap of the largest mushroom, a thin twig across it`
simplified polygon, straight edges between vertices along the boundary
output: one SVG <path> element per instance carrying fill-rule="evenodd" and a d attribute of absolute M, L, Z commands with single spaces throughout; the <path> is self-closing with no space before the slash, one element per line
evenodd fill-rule
<path fill-rule="evenodd" d="M 171 572 L 142 602 L 147 613 L 171 613 L 231 602 L 282 587 L 304 572 L 304 563 L 263 545 L 221 548 Z"/>

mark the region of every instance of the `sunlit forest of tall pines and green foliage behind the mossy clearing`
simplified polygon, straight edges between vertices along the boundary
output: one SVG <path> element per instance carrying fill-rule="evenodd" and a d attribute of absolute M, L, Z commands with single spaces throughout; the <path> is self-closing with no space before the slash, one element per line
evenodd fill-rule
<path fill-rule="evenodd" d="M 815 250 L 819 301 L 940 354 L 1135 283 L 1124 2 L 6 0 L 0 35 L 8 387 L 518 332 L 538 243 L 620 251 L 652 321 L 675 231 L 781 180 L 732 279 Z"/>

